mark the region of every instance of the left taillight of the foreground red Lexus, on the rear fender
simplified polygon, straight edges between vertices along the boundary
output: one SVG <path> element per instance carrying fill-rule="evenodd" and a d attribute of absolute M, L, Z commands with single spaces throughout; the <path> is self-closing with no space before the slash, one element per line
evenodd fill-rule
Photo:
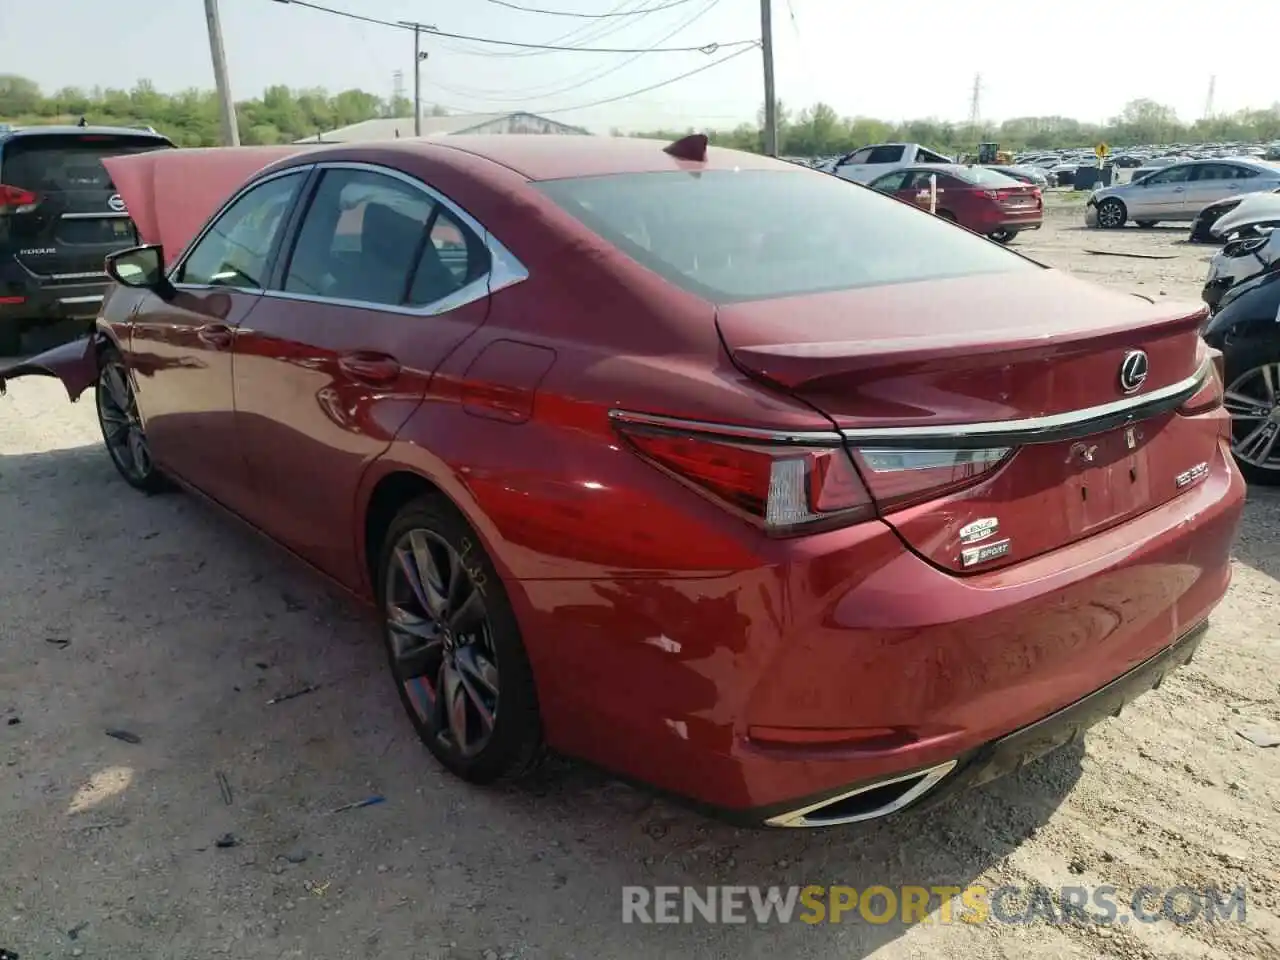
<path fill-rule="evenodd" d="M 617 426 L 652 463 L 771 535 L 810 534 L 876 516 L 844 447 L 760 444 L 626 422 Z"/>

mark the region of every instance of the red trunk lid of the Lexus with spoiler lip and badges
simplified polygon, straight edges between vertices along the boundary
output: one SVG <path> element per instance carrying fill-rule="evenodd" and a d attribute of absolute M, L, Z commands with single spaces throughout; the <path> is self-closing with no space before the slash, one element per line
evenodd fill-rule
<path fill-rule="evenodd" d="M 910 547 L 978 572 L 1151 509 L 1212 462 L 1216 420 L 1174 412 L 1203 316 L 1046 270 L 733 303 L 718 323 L 739 367 L 845 431 Z"/>

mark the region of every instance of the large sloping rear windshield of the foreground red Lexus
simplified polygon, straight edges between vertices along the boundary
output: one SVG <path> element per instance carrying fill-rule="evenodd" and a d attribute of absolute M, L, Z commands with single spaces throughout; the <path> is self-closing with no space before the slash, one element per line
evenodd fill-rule
<path fill-rule="evenodd" d="M 824 173 L 641 173 L 536 184 L 671 283 L 718 303 L 1038 269 Z"/>

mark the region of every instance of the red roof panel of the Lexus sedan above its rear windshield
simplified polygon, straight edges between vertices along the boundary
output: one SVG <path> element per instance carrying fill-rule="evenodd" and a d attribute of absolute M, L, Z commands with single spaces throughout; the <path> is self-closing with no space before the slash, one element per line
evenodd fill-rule
<path fill-rule="evenodd" d="M 593 137 L 581 134 L 488 133 L 458 134 L 439 140 L 408 138 L 361 143 L 362 147 L 390 147 L 435 152 L 440 147 L 457 150 L 500 164 L 530 180 L 556 180 L 575 177 L 603 177 L 618 173 L 662 173 L 671 170 L 787 170 L 795 164 L 748 154 L 740 150 L 708 147 L 705 160 L 678 160 L 663 148 L 671 141 L 641 137 Z"/>

